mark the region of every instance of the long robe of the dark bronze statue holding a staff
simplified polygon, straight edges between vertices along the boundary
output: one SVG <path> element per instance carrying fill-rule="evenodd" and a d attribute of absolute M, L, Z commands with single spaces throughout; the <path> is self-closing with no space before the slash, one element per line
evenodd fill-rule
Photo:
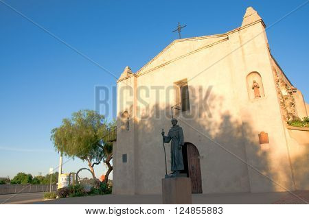
<path fill-rule="evenodd" d="M 164 136 L 164 143 L 170 143 L 172 140 L 170 152 L 171 152 L 171 170 L 184 170 L 183 165 L 183 129 L 179 125 L 174 125 L 168 131 L 168 136 Z M 179 149 L 181 145 L 181 149 Z"/>

